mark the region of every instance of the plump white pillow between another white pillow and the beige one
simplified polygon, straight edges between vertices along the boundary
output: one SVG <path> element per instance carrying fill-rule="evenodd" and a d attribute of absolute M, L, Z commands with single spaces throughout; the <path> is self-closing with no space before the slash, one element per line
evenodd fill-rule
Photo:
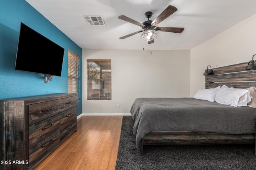
<path fill-rule="evenodd" d="M 215 102 L 229 106 L 247 106 L 251 102 L 250 91 L 242 88 L 228 88 L 223 85 L 215 96 Z"/>

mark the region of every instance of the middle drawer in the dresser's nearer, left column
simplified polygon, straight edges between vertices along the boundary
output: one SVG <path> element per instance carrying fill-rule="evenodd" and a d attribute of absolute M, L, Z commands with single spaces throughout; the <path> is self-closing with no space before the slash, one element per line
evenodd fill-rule
<path fill-rule="evenodd" d="M 40 139 L 44 139 L 53 131 L 60 129 L 60 114 L 44 119 L 38 123 L 34 123 L 29 127 L 29 146 L 38 143 Z"/>

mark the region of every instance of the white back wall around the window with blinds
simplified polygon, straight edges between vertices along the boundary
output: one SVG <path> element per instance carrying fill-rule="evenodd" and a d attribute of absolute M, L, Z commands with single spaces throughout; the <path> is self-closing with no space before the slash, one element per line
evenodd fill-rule
<path fill-rule="evenodd" d="M 111 59 L 112 100 L 87 100 L 86 59 Z M 136 98 L 190 97 L 190 50 L 82 51 L 82 113 L 130 113 Z M 116 105 L 119 104 L 120 108 Z"/>

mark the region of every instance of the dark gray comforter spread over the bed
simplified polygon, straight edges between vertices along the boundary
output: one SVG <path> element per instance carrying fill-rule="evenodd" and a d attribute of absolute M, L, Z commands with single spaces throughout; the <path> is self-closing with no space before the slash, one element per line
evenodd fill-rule
<path fill-rule="evenodd" d="M 137 98 L 131 107 L 136 147 L 152 131 L 255 133 L 256 109 L 194 98 Z"/>

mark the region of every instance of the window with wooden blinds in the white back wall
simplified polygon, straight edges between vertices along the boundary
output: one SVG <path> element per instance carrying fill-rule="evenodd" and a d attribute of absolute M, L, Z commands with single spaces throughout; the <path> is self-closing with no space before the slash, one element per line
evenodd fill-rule
<path fill-rule="evenodd" d="M 111 60 L 87 60 L 87 100 L 111 100 Z"/>

